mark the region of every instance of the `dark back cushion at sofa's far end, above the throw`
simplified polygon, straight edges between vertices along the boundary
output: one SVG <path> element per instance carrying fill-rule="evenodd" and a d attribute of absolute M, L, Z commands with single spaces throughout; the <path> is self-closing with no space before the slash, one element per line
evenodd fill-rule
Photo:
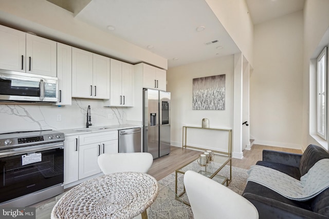
<path fill-rule="evenodd" d="M 304 151 L 299 164 L 300 175 L 306 174 L 315 163 L 323 158 L 329 158 L 329 153 L 324 148 L 317 145 L 309 145 Z"/>

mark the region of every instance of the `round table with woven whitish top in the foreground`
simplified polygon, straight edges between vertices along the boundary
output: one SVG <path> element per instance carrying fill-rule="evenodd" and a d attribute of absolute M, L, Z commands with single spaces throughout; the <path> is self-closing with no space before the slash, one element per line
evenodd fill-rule
<path fill-rule="evenodd" d="M 158 191 L 158 182 L 146 173 L 102 175 L 66 192 L 53 207 L 51 218 L 133 218 L 141 213 L 145 216 Z"/>

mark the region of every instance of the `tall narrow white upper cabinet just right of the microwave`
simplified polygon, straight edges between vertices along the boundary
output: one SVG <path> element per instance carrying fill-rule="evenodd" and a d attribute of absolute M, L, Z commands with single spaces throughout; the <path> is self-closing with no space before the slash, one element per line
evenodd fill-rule
<path fill-rule="evenodd" d="M 57 43 L 58 102 L 56 105 L 72 104 L 72 47 Z"/>

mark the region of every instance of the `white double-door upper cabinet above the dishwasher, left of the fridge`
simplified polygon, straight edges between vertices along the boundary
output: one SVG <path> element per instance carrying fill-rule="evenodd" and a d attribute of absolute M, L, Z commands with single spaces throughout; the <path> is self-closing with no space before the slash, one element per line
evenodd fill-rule
<path fill-rule="evenodd" d="M 111 58 L 111 90 L 106 106 L 134 106 L 134 66 Z"/>

